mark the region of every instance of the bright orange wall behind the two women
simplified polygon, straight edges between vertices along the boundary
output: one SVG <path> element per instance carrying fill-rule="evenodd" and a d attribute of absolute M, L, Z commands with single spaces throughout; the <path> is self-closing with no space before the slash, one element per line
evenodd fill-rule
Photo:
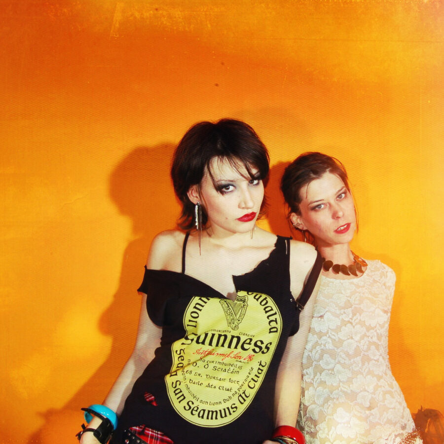
<path fill-rule="evenodd" d="M 5 443 L 75 442 L 132 348 L 150 240 L 173 227 L 171 151 L 199 120 L 285 162 L 346 165 L 353 248 L 397 273 L 392 370 L 444 412 L 443 1 L 0 2 Z"/>

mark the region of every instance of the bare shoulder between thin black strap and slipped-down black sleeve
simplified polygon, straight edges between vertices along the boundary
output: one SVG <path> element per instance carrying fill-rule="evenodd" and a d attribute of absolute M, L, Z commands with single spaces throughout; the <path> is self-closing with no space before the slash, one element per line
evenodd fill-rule
<path fill-rule="evenodd" d="M 181 261 L 185 233 L 179 230 L 166 230 L 157 234 L 149 248 L 147 268 L 154 270 L 175 270 Z"/>

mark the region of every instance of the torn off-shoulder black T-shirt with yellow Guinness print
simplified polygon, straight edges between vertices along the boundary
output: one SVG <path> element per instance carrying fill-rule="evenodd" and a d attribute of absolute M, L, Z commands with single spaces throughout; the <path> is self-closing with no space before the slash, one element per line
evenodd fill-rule
<path fill-rule="evenodd" d="M 257 444 L 274 429 L 277 370 L 299 310 L 290 291 L 290 240 L 251 272 L 233 276 L 230 300 L 182 273 L 145 270 L 140 292 L 148 315 L 162 327 L 160 347 L 135 382 L 111 443 L 142 426 L 163 432 L 175 444 Z M 304 294 L 319 275 L 316 264 Z M 301 296 L 302 299 L 302 296 Z"/>

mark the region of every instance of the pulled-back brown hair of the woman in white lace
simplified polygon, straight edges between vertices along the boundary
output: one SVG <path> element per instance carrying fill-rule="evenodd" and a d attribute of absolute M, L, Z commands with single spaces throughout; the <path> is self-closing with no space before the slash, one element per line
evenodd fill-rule
<path fill-rule="evenodd" d="M 332 156 L 322 152 L 304 152 L 287 166 L 281 179 L 281 191 L 289 207 L 289 215 L 300 215 L 300 190 L 311 181 L 320 179 L 325 173 L 338 176 L 351 192 L 344 165 Z"/>

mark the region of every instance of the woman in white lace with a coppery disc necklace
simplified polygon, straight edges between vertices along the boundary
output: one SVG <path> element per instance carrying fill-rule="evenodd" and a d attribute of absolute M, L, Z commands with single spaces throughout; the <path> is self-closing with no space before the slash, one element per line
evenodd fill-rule
<path fill-rule="evenodd" d="M 307 444 L 422 443 L 388 358 L 395 273 L 350 249 L 358 223 L 345 168 L 304 153 L 281 190 L 292 225 L 324 260 L 302 360 L 298 426 Z"/>

